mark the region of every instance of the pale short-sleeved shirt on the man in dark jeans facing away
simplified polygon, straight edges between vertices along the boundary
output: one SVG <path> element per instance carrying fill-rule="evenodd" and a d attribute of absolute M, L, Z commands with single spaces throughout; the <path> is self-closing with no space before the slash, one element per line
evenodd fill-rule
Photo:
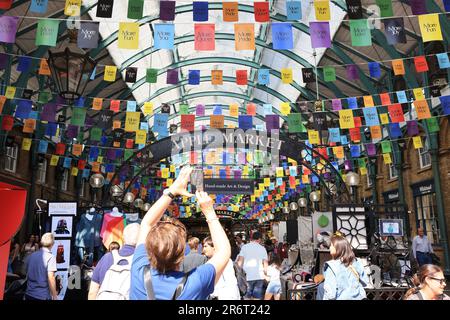
<path fill-rule="evenodd" d="M 256 242 L 242 246 L 240 257 L 244 258 L 244 271 L 247 281 L 264 280 L 263 260 L 268 260 L 266 249 Z"/>

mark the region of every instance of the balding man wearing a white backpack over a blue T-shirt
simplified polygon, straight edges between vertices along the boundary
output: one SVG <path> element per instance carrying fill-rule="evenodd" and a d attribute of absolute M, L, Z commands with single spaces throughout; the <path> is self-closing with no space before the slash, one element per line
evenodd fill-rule
<path fill-rule="evenodd" d="M 94 269 L 89 300 L 128 300 L 131 263 L 140 226 L 132 223 L 123 231 L 124 246 L 105 254 Z"/>

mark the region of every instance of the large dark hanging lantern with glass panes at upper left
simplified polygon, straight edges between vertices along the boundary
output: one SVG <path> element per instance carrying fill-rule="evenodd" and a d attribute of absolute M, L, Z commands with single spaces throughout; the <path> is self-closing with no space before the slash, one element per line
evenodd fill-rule
<path fill-rule="evenodd" d="M 70 29 L 68 34 L 68 44 L 49 50 L 48 66 L 60 96 L 72 104 L 83 96 L 97 62 L 78 48 L 78 29 Z"/>

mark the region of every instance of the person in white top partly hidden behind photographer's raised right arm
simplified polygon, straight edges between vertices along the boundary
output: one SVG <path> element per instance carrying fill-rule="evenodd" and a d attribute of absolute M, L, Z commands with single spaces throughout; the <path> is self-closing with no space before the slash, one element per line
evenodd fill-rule
<path fill-rule="evenodd" d="M 203 254 L 210 259 L 215 253 L 214 243 L 210 237 L 203 239 Z M 233 261 L 228 260 L 227 266 L 219 281 L 214 286 L 214 292 L 210 296 L 217 300 L 240 300 L 238 281 L 234 272 Z"/>

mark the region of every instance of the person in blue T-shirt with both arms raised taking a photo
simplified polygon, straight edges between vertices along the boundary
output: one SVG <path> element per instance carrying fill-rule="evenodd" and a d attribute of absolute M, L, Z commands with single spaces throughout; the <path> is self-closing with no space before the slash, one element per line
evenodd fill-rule
<path fill-rule="evenodd" d="M 230 259 L 230 243 L 216 216 L 213 200 L 206 192 L 197 191 L 196 200 L 206 217 L 215 252 L 207 263 L 191 272 L 179 271 L 186 229 L 176 219 L 161 220 L 161 217 L 175 197 L 193 196 L 186 190 L 191 172 L 189 167 L 181 169 L 178 178 L 142 220 L 131 266 L 132 300 L 206 300 Z"/>

